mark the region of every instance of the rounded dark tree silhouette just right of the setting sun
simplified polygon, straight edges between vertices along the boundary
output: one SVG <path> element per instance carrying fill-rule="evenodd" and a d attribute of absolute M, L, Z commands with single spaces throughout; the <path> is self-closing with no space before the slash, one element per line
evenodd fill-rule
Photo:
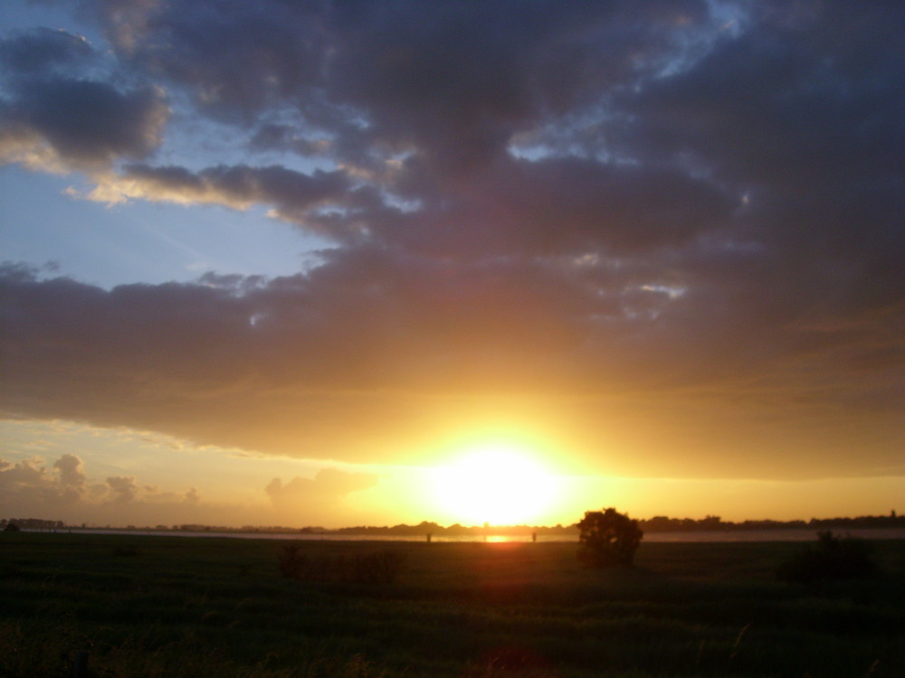
<path fill-rule="evenodd" d="M 614 508 L 586 511 L 578 529 L 578 560 L 589 568 L 631 565 L 644 534 L 638 521 Z"/>

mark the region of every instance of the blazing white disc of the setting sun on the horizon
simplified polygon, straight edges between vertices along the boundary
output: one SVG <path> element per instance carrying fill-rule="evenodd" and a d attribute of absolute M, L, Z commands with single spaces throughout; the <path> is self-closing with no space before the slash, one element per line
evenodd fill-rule
<path fill-rule="evenodd" d="M 534 524 L 557 494 L 557 479 L 519 447 L 487 444 L 437 469 L 434 498 L 458 523 Z"/>

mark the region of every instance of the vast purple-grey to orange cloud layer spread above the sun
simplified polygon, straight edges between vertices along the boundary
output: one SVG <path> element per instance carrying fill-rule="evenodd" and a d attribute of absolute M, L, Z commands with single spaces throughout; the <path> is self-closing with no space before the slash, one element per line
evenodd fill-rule
<path fill-rule="evenodd" d="M 5 410 L 389 460 L 492 401 L 627 472 L 902 471 L 900 8 L 86 8 L 111 54 L 0 43 L 0 157 L 333 247 L 110 290 L 9 265 Z M 232 146 L 180 155 L 190 123 Z"/>

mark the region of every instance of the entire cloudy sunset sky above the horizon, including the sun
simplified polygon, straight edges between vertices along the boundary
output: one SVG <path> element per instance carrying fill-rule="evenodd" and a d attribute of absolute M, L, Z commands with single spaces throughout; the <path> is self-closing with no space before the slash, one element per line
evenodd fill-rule
<path fill-rule="evenodd" d="M 0 27 L 5 516 L 905 511 L 905 6 Z"/>

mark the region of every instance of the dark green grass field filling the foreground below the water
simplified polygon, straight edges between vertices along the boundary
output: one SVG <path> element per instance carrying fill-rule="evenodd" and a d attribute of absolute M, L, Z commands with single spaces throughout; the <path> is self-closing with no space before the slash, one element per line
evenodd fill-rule
<path fill-rule="evenodd" d="M 393 549 L 393 584 L 283 579 L 285 541 L 0 533 L 0 676 L 905 676 L 905 541 L 882 574 L 782 584 L 795 543 L 642 543 L 583 570 L 568 543 Z"/>

